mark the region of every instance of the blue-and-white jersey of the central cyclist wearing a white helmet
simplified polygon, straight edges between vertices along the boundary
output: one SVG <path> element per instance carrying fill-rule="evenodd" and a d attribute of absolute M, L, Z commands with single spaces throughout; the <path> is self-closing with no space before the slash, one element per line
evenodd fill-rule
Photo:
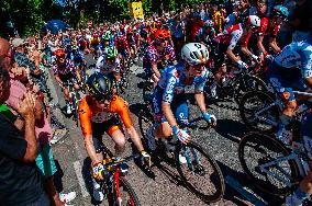
<path fill-rule="evenodd" d="M 203 92 L 209 71 L 203 70 L 200 77 L 187 78 L 182 64 L 167 67 L 163 70 L 158 87 L 164 89 L 163 101 L 171 103 L 175 94 L 182 94 L 194 85 L 194 92 Z"/>

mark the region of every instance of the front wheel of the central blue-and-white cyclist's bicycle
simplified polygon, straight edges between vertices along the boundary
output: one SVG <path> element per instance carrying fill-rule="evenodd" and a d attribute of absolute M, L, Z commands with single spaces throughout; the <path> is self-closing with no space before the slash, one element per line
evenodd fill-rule
<path fill-rule="evenodd" d="M 179 156 L 186 158 L 186 163 Z M 205 203 L 214 203 L 224 195 L 223 174 L 215 160 L 200 145 L 190 141 L 179 144 L 175 151 L 176 164 L 181 179 L 192 193 Z"/>

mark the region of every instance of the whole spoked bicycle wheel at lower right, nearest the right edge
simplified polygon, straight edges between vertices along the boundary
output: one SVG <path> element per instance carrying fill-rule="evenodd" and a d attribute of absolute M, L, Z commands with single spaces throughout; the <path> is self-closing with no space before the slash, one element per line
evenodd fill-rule
<path fill-rule="evenodd" d="M 247 176 L 258 188 L 277 196 L 290 194 L 293 186 L 287 182 L 293 185 L 299 176 L 293 159 L 280 159 L 289 154 L 289 149 L 279 140 L 260 133 L 245 135 L 238 146 L 239 161 Z"/>

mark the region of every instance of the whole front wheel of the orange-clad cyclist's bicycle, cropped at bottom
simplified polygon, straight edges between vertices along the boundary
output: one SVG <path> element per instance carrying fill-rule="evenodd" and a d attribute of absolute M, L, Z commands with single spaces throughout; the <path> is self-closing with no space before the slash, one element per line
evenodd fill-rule
<path fill-rule="evenodd" d="M 119 193 L 120 198 L 118 198 L 116 190 L 115 192 L 115 206 L 141 206 L 140 201 L 132 188 L 131 184 L 124 179 L 119 179 Z"/>

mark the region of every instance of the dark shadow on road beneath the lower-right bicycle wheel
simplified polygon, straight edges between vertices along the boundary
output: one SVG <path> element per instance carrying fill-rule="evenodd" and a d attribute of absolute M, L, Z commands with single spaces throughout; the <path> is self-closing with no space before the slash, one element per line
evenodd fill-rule
<path fill-rule="evenodd" d="M 250 203 L 253 205 L 263 205 L 259 203 L 264 202 L 264 205 L 281 205 L 281 198 L 259 191 L 257 187 L 255 187 L 255 185 L 253 185 L 253 181 L 246 178 L 245 173 L 232 170 L 220 161 L 218 161 L 218 164 L 223 173 L 224 179 L 234 180 L 226 182 L 225 193 L 223 196 L 224 199 L 231 201 L 236 205 L 250 205 Z M 231 179 L 229 179 L 229 176 Z M 243 192 L 239 191 L 239 187 Z"/>

